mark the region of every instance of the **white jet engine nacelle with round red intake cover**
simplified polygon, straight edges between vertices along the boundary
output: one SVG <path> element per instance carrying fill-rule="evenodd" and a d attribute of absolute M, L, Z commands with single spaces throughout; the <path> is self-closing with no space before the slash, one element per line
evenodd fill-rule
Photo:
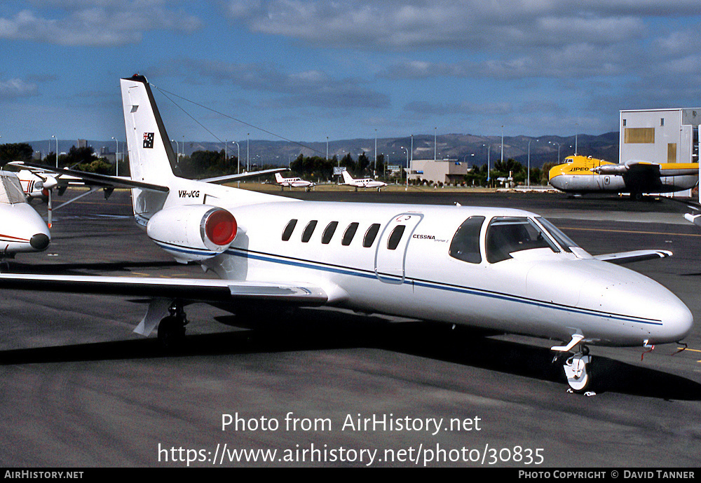
<path fill-rule="evenodd" d="M 224 252 L 237 231 L 230 212 L 210 205 L 165 208 L 146 226 L 151 240 L 183 262 L 206 260 Z"/>

